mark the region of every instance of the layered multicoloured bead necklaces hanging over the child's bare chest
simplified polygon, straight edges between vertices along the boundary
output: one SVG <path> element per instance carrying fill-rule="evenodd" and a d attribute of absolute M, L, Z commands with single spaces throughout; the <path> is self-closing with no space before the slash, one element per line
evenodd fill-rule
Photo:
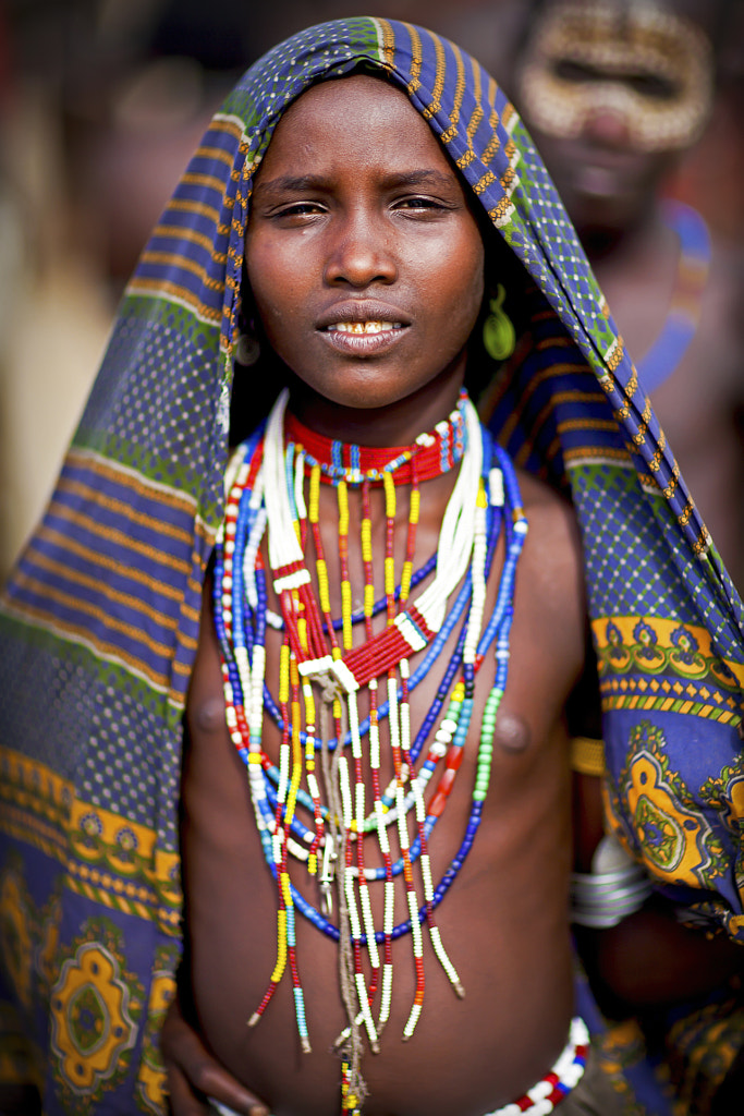
<path fill-rule="evenodd" d="M 360 1113 L 365 1094 L 360 1029 L 364 1027 L 370 1048 L 378 1050 L 390 1012 L 393 941 L 410 935 L 416 974 L 404 1040 L 414 1033 L 424 1001 L 424 927 L 455 993 L 464 994 L 434 912 L 472 847 L 487 792 L 495 719 L 506 683 L 514 575 L 526 519 L 513 466 L 481 427 L 464 393 L 446 422 L 421 435 L 414 445 L 393 450 L 322 439 L 287 415 L 286 405 L 283 393 L 265 430 L 259 430 L 238 451 L 239 464 L 215 548 L 215 625 L 226 722 L 248 767 L 255 822 L 278 888 L 277 962 L 249 1022 L 254 1026 L 259 1021 L 289 966 L 300 1042 L 310 1050 L 296 951 L 294 917 L 299 910 L 339 943 L 340 985 L 348 1017 L 338 1040 L 341 1108 L 355 1114 Z M 426 564 L 426 573 L 415 571 L 419 484 L 455 465 L 460 471 L 442 520 L 435 560 Z M 340 623 L 331 615 L 319 518 L 321 483 L 332 484 L 337 494 Z M 409 490 L 408 527 L 396 585 L 394 538 L 404 485 Z M 385 585 L 379 602 L 373 578 L 370 490 L 375 487 L 383 488 L 385 502 Z M 356 616 L 348 560 L 350 489 L 360 489 L 361 504 L 364 606 Z M 487 578 L 502 536 L 504 565 L 495 606 L 486 616 Z M 268 571 L 261 549 L 264 538 L 281 617 L 268 608 Z M 315 554 L 317 595 L 305 558 L 310 550 Z M 412 600 L 412 588 L 429 573 L 434 576 L 428 586 Z M 386 624 L 375 633 L 373 617 L 381 610 Z M 365 639 L 357 646 L 355 620 L 365 625 Z M 276 698 L 264 677 L 268 624 L 282 632 Z M 458 625 L 454 651 L 437 667 Z M 462 764 L 475 674 L 494 643 L 495 680 L 483 713 L 470 817 L 460 848 L 435 885 L 428 841 Z M 409 658 L 418 652 L 424 654 L 412 672 Z M 413 735 L 410 693 L 435 668 L 442 672 L 441 682 Z M 368 713 L 360 719 L 358 696 L 365 689 Z M 281 734 L 278 766 L 262 748 L 264 709 Z M 383 789 L 384 722 L 393 779 Z M 370 809 L 366 769 L 371 785 Z M 438 780 L 428 791 L 437 769 Z M 374 837 L 381 859 L 377 867 L 368 866 L 365 855 L 365 843 Z M 294 886 L 291 863 L 305 864 L 309 875 L 318 879 L 318 906 Z M 406 907 L 405 917 L 396 922 L 398 876 L 404 879 Z M 383 884 L 381 927 L 374 923 L 369 892 L 376 882 Z M 330 918 L 334 897 L 338 925 Z M 363 964 L 365 951 L 369 978 Z"/>

